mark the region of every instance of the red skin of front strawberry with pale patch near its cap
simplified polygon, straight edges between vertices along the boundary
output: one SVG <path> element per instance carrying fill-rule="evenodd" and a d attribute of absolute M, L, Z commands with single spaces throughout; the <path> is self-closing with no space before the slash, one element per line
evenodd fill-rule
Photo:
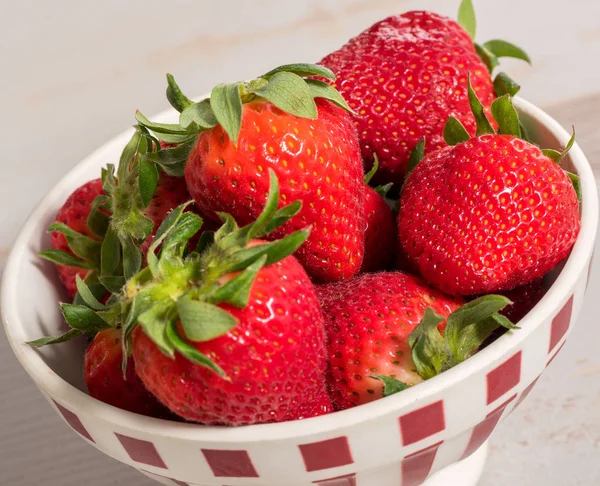
<path fill-rule="evenodd" d="M 317 294 L 327 330 L 329 389 L 338 410 L 382 398 L 382 383 L 370 375 L 420 383 L 408 336 L 427 307 L 448 316 L 463 303 L 401 272 L 321 285 Z M 445 321 L 439 325 L 444 328 Z"/>

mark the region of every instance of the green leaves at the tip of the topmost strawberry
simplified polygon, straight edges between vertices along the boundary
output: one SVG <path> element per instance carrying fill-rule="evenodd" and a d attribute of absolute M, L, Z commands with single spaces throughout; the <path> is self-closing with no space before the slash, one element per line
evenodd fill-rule
<path fill-rule="evenodd" d="M 531 59 L 527 53 L 520 47 L 510 42 L 499 39 L 487 41 L 483 44 L 478 44 L 475 42 L 475 36 L 477 33 L 477 18 L 472 0 L 462 0 L 458 9 L 457 19 L 460 26 L 467 31 L 473 40 L 475 50 L 488 68 L 490 74 L 492 74 L 494 69 L 500 65 L 500 58 L 503 57 L 520 59 L 528 64 L 531 64 Z M 514 96 L 519 91 L 520 86 L 514 80 L 512 80 L 508 74 L 500 72 L 494 79 L 494 88 L 498 96 L 503 96 L 505 94 Z"/>

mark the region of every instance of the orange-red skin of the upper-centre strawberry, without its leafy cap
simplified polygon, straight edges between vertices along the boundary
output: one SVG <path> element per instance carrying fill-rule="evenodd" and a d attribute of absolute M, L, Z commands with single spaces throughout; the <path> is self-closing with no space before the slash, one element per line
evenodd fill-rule
<path fill-rule="evenodd" d="M 318 281 L 349 278 L 364 254 L 362 162 L 349 115 L 317 100 L 318 118 L 298 118 L 267 102 L 243 105 L 237 144 L 220 126 L 198 138 L 185 180 L 207 215 L 227 212 L 248 224 L 262 211 L 269 169 L 279 179 L 280 206 L 302 201 L 301 212 L 269 235 L 279 239 L 312 225 L 296 253 Z"/>

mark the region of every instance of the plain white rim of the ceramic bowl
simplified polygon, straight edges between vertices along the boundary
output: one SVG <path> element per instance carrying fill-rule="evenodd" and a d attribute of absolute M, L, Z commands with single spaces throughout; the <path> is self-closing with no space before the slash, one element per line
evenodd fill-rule
<path fill-rule="evenodd" d="M 514 98 L 514 102 L 521 113 L 526 113 L 540 125 L 545 126 L 561 144 L 566 144 L 570 138 L 569 133 L 550 115 L 518 96 Z M 165 110 L 154 119 L 162 120 L 172 115 L 172 109 Z M 99 420 L 129 429 L 142 436 L 151 434 L 221 444 L 289 440 L 314 434 L 329 434 L 390 414 L 397 415 L 398 410 L 415 408 L 417 403 L 477 374 L 490 363 L 496 362 L 516 350 L 539 325 L 561 308 L 560 306 L 567 300 L 581 273 L 587 268 L 594 248 L 598 224 L 596 182 L 588 160 L 579 145 L 575 143 L 570 151 L 570 158 L 581 179 L 583 195 L 581 231 L 563 270 L 533 311 L 520 321 L 521 329 L 518 332 L 505 334 L 465 362 L 419 384 L 419 386 L 384 400 L 376 400 L 360 407 L 329 415 L 237 428 L 203 426 L 145 417 L 92 398 L 56 374 L 34 349 L 23 342 L 24 335 L 21 332 L 23 327 L 16 305 L 17 285 L 14 284 L 19 278 L 19 267 L 23 261 L 27 243 L 30 241 L 32 232 L 40 224 L 40 218 L 45 208 L 49 204 L 56 203 L 58 195 L 65 190 L 65 187 L 75 187 L 75 181 L 87 170 L 89 165 L 96 164 L 98 160 L 105 160 L 104 154 L 114 151 L 115 147 L 124 146 L 132 133 L 133 129 L 121 133 L 84 158 L 33 209 L 22 226 L 9 255 L 0 287 L 0 308 L 4 329 L 13 352 L 29 376 L 45 394 L 69 406 L 75 413 L 80 412 L 84 415 L 94 416 Z"/>

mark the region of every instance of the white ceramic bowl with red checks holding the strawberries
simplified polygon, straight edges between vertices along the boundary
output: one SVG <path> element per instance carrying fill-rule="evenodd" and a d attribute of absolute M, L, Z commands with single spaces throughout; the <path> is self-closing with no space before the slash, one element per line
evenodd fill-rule
<path fill-rule="evenodd" d="M 515 104 L 538 143 L 564 146 L 569 135 L 556 121 L 522 99 Z M 175 118 L 174 111 L 156 117 Z M 91 398 L 82 379 L 83 342 L 38 351 L 25 344 L 65 326 L 56 272 L 36 256 L 49 246 L 46 228 L 73 189 L 118 160 L 131 133 L 94 152 L 52 189 L 23 226 L 4 273 L 1 308 L 10 344 L 66 423 L 104 453 L 164 484 L 415 486 L 445 468 L 428 484 L 472 484 L 482 444 L 527 396 L 581 308 L 598 203 L 579 146 L 566 163 L 581 177 L 581 233 L 563 268 L 549 277 L 545 297 L 520 322 L 522 329 L 438 377 L 368 405 L 298 422 L 219 428 L 147 418 Z M 463 466 L 448 468 L 478 450 Z"/>

